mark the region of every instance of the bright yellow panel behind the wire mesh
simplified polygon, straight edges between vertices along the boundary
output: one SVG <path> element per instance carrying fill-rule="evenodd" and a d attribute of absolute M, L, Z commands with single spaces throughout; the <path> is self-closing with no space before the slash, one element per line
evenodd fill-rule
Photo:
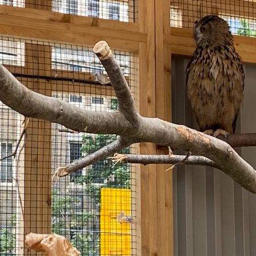
<path fill-rule="evenodd" d="M 128 216 L 130 210 L 130 189 L 101 189 L 101 255 L 131 255 L 131 224 L 117 221 L 120 213 Z"/>

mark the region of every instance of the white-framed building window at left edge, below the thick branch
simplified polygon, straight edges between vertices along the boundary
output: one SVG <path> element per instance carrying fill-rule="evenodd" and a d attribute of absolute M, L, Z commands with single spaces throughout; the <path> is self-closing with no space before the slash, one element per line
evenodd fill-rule
<path fill-rule="evenodd" d="M 1 158 L 13 153 L 13 143 L 1 143 Z M 13 158 L 3 159 L 0 165 L 1 182 L 13 182 Z"/>

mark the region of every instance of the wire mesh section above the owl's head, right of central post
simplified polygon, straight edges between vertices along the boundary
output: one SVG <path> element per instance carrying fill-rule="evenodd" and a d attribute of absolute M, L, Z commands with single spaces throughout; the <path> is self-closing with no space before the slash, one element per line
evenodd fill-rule
<path fill-rule="evenodd" d="M 173 27 L 193 28 L 195 21 L 206 15 L 224 18 L 234 35 L 256 36 L 255 1 L 171 0 L 170 24 Z"/>

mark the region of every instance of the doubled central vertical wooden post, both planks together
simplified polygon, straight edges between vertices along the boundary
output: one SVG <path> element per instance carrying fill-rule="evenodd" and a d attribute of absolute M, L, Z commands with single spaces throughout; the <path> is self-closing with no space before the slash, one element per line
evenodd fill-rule
<path fill-rule="evenodd" d="M 170 35 L 170 2 L 140 1 L 140 31 L 147 43 L 139 44 L 140 113 L 171 121 L 171 51 L 164 45 Z M 156 145 L 141 143 L 141 154 L 164 154 Z M 141 167 L 142 255 L 173 255 L 172 173 L 169 166 Z"/>

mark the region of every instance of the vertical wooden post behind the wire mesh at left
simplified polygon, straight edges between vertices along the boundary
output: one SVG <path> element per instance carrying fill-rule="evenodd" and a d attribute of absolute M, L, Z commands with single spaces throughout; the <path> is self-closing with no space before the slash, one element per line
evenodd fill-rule
<path fill-rule="evenodd" d="M 24 70 L 27 74 L 51 74 L 50 46 L 26 43 L 25 56 Z M 51 96 L 51 88 L 42 88 L 40 79 L 36 77 L 32 82 L 22 82 L 35 92 Z M 51 233 L 51 123 L 31 118 L 27 131 L 22 179 L 24 222 L 28 232 L 47 234 Z"/>

